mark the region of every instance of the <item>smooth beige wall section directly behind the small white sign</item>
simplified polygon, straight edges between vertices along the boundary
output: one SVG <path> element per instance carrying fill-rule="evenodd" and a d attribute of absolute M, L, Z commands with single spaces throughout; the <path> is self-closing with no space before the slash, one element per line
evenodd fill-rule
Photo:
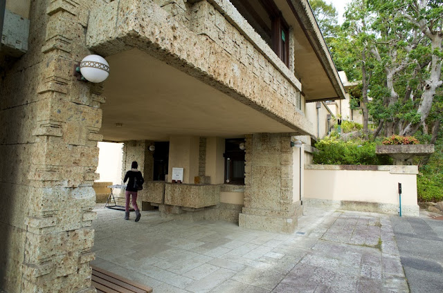
<path fill-rule="evenodd" d="M 168 182 L 172 182 L 172 168 L 183 168 L 183 183 L 194 183 L 199 176 L 199 137 L 171 136 L 169 144 Z"/>

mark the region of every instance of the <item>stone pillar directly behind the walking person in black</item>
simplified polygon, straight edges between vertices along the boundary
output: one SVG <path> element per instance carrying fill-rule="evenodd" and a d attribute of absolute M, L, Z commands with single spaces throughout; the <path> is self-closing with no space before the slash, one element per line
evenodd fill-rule
<path fill-rule="evenodd" d="M 154 157 L 149 147 L 154 144 L 150 140 L 129 140 L 123 143 L 123 162 L 122 162 L 122 182 L 125 178 L 126 171 L 131 169 L 132 162 L 138 163 L 138 170 L 141 171 L 145 182 L 152 181 L 154 174 Z M 143 185 L 143 189 L 138 191 L 137 205 L 141 209 L 142 201 L 147 198 L 147 184 Z M 125 191 L 121 191 L 120 196 L 125 196 Z"/>

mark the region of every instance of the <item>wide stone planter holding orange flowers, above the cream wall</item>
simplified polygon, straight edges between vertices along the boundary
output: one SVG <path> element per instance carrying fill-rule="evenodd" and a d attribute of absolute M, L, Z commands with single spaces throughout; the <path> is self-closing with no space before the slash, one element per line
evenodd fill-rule
<path fill-rule="evenodd" d="M 413 158 L 417 156 L 431 155 L 434 152 L 433 144 L 396 144 L 377 146 L 377 155 L 389 155 L 396 165 L 413 164 Z"/>

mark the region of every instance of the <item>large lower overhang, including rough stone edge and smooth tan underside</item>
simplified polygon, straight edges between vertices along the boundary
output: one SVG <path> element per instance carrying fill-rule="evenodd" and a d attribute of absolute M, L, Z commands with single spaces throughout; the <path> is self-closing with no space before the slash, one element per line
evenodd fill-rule
<path fill-rule="evenodd" d="M 104 140 L 314 131 L 253 68 L 152 1 L 118 0 L 91 11 L 87 46 L 111 67 L 103 93 Z"/>

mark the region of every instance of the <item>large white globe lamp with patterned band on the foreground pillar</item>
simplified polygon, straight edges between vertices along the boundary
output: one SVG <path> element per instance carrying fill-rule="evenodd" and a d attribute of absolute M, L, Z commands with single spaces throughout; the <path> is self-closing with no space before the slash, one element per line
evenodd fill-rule
<path fill-rule="evenodd" d="M 99 55 L 88 55 L 80 64 L 75 65 L 74 75 L 78 80 L 104 82 L 109 76 L 109 64 Z"/>

